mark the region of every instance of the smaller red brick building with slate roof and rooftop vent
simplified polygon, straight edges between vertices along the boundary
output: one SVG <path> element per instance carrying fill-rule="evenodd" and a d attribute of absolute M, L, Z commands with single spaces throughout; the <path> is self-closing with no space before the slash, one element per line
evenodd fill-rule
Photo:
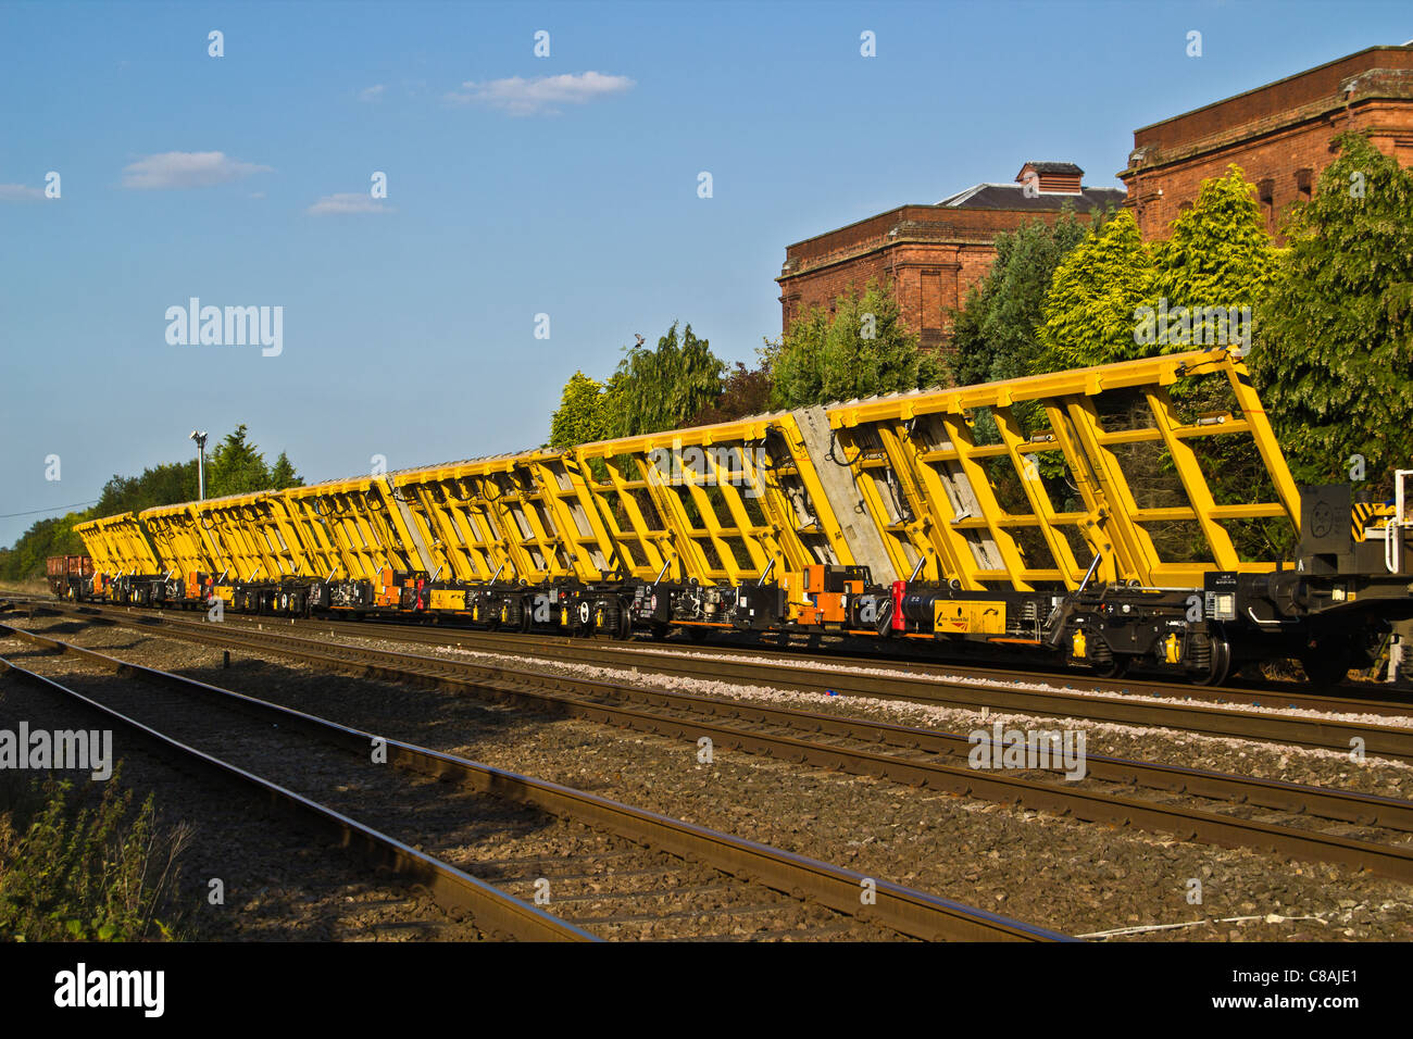
<path fill-rule="evenodd" d="M 995 236 L 1024 221 L 1058 219 L 1067 204 L 1081 216 L 1118 208 L 1122 188 L 1087 188 L 1072 163 L 1026 163 L 1012 184 L 976 184 L 935 205 L 904 205 L 786 246 L 780 286 L 783 328 L 814 307 L 862 291 L 869 278 L 892 283 L 903 319 L 924 345 L 948 339 L 948 308 L 966 298 L 996 259 Z"/>

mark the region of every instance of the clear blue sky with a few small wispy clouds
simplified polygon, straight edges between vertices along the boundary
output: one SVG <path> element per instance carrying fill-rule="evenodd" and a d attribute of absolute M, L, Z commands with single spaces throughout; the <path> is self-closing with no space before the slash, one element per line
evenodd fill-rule
<path fill-rule="evenodd" d="M 1121 187 L 1136 127 L 1410 37 L 1406 3 L 0 3 L 0 513 L 194 427 L 309 481 L 540 444 L 634 332 L 753 360 L 787 243 L 1031 158 Z M 168 344 L 191 297 L 283 307 L 283 352 Z"/>

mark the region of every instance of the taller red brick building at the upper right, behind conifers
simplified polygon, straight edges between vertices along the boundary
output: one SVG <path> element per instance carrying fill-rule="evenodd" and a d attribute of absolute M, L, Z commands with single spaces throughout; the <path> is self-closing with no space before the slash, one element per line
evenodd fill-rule
<path fill-rule="evenodd" d="M 1201 182 L 1235 163 L 1275 235 L 1282 211 L 1310 198 L 1344 130 L 1369 130 L 1375 147 L 1413 165 L 1413 45 L 1371 47 L 1135 130 L 1118 174 L 1125 205 L 1145 237 L 1166 237 Z"/>

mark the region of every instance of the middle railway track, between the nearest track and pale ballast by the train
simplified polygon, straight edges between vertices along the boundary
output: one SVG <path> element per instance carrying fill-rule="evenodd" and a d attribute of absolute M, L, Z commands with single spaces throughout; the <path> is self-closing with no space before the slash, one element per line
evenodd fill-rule
<path fill-rule="evenodd" d="M 273 652 L 326 670 L 513 700 L 670 738 L 706 736 L 752 753 L 1019 803 L 1085 821 L 1133 826 L 1413 879 L 1413 847 L 1406 838 L 1413 833 L 1413 803 L 1400 799 L 1092 755 L 1085 759 L 1087 775 L 1080 783 L 1065 780 L 1058 765 L 1031 770 L 974 769 L 965 763 L 972 744 L 959 734 L 646 688 L 637 683 L 575 679 L 533 667 L 311 642 L 252 630 L 250 625 L 215 630 L 209 623 L 162 621 L 157 625 L 161 633 Z"/>

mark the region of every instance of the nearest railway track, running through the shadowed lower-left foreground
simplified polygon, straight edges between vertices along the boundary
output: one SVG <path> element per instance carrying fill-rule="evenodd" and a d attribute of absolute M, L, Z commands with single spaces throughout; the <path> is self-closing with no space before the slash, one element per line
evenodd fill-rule
<path fill-rule="evenodd" d="M 23 667 L 14 653 L 4 654 L 0 667 L 161 741 L 168 752 L 198 756 L 307 813 L 312 810 L 346 837 L 357 837 L 380 855 L 393 855 L 404 868 L 415 867 L 414 872 L 431 879 L 441 896 L 454 888 L 452 893 L 461 893 L 455 905 L 469 912 L 489 912 L 483 899 L 499 900 L 506 915 L 528 910 L 528 920 L 512 919 L 500 927 L 521 937 L 1064 939 L 927 892 L 339 725 L 59 639 L 10 626 L 0 635 L 25 639 L 42 656 L 72 656 L 112 677 L 105 674 L 90 683 L 100 690 L 81 693 Z M 122 690 L 112 688 L 117 680 Z M 147 686 L 140 695 L 131 688 L 134 681 Z M 160 731 L 158 724 L 181 735 Z M 198 749 L 212 744 L 230 758 L 250 762 L 249 768 Z M 377 748 L 383 749 L 386 765 L 376 761 Z M 260 777 L 256 768 L 276 776 Z M 455 783 L 465 796 L 448 800 L 441 783 L 411 783 L 406 773 Z M 301 786 L 318 787 L 319 800 L 295 793 Z M 373 804 L 386 817 L 389 830 L 400 820 L 406 828 L 407 820 L 415 818 L 415 837 L 398 843 L 349 814 L 373 811 Z M 475 817 L 468 821 L 471 813 Z M 510 833 L 516 854 L 480 854 L 493 833 Z M 434 858 L 411 847 L 413 840 L 442 847 Z M 445 861 L 452 857 L 458 857 L 458 865 Z M 527 898 L 544 893 L 550 909 L 530 905 L 506 889 Z M 861 892 L 870 898 L 861 898 Z"/>

